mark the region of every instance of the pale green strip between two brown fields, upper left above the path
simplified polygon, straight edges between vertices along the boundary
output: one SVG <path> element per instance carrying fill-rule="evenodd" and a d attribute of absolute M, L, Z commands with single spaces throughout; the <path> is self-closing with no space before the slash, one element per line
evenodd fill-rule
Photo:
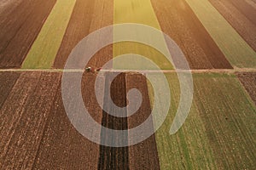
<path fill-rule="evenodd" d="M 51 68 L 67 29 L 76 0 L 57 0 L 21 68 Z"/>

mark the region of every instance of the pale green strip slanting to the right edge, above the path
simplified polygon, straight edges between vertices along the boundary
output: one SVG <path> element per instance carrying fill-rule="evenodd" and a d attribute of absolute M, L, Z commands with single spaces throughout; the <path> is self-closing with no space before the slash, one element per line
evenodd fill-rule
<path fill-rule="evenodd" d="M 208 0 L 186 0 L 231 65 L 256 68 L 256 53 Z"/>

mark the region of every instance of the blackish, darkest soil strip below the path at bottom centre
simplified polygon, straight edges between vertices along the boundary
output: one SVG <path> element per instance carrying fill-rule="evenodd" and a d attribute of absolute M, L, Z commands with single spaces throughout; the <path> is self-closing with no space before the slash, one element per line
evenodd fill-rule
<path fill-rule="evenodd" d="M 111 83 L 110 77 L 113 77 L 113 75 L 113 73 L 106 75 L 106 84 Z M 121 73 L 113 80 L 110 93 L 115 105 L 119 107 L 126 106 L 125 73 Z M 112 113 L 117 113 L 117 111 L 115 111 L 114 108 L 109 105 L 110 100 L 111 99 L 108 99 L 108 95 L 105 94 L 105 107 L 108 108 Z M 107 112 L 103 111 L 102 126 L 112 129 L 125 130 L 127 129 L 127 118 L 111 116 Z M 108 138 L 108 134 L 101 134 L 102 143 L 109 140 Z M 112 138 L 113 139 L 111 140 L 113 144 L 117 144 L 119 140 L 128 141 L 128 133 L 120 138 Z M 128 147 L 115 148 L 101 145 L 98 169 L 129 169 Z"/>

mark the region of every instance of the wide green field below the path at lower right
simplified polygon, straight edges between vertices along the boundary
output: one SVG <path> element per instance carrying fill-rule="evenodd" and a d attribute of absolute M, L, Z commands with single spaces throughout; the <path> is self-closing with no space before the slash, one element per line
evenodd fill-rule
<path fill-rule="evenodd" d="M 253 161 L 256 108 L 233 74 L 194 74 L 193 105 L 183 127 L 174 135 L 170 135 L 169 130 L 179 103 L 179 82 L 175 73 L 166 73 L 166 77 L 172 93 L 172 108 L 155 135 L 161 169 L 256 166 Z M 148 91 L 153 104 L 154 90 L 150 85 Z"/>

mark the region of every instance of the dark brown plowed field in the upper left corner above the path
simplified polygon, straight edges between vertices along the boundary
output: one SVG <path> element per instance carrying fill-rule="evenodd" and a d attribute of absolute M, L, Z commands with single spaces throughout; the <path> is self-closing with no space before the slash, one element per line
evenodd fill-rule
<path fill-rule="evenodd" d="M 55 0 L 17 1 L 0 15 L 0 68 L 19 68 L 44 25 Z"/>

